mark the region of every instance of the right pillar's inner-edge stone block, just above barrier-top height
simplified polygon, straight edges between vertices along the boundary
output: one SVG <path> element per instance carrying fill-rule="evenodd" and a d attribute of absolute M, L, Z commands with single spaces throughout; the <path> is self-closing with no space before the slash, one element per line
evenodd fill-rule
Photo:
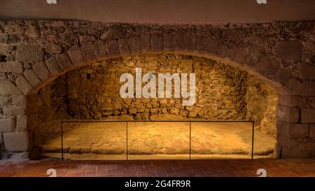
<path fill-rule="evenodd" d="M 284 122 L 297 122 L 300 114 L 296 107 L 278 105 L 277 108 L 278 119 Z"/>

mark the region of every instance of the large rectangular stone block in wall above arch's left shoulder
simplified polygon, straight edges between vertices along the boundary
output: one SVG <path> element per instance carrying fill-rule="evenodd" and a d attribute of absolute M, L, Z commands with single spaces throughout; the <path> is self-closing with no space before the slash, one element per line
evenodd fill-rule
<path fill-rule="evenodd" d="M 43 61 L 44 50 L 41 45 L 37 44 L 20 44 L 16 52 L 18 61 Z"/>

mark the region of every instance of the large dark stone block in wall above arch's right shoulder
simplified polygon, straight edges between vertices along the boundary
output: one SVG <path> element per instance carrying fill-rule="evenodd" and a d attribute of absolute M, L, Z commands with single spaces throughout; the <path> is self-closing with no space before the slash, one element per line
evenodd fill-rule
<path fill-rule="evenodd" d="M 301 60 L 303 45 L 298 41 L 279 41 L 276 43 L 276 56 L 293 62 Z"/>

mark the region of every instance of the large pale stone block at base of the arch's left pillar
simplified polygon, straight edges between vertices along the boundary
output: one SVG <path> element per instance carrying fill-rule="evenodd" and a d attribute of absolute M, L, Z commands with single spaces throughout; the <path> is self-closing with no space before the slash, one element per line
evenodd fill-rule
<path fill-rule="evenodd" d="M 4 146 L 10 152 L 29 151 L 33 141 L 29 132 L 10 132 L 3 134 Z"/>

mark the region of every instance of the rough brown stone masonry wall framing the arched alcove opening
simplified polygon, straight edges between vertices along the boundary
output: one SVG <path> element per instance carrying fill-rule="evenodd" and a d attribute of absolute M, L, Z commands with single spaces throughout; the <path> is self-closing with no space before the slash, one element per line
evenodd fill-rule
<path fill-rule="evenodd" d="M 14 158 L 38 153 L 37 92 L 71 69 L 120 56 L 176 53 L 247 71 L 279 94 L 278 157 L 315 155 L 314 22 L 124 24 L 0 21 L 0 146 Z"/>

